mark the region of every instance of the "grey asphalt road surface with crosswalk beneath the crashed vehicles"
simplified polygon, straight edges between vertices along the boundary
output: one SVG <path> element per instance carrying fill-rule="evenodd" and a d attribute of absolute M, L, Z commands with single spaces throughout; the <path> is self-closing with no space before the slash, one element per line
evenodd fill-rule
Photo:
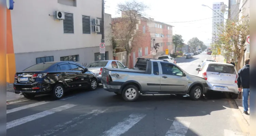
<path fill-rule="evenodd" d="M 188 73 L 210 55 L 177 58 Z M 77 90 L 7 105 L 8 136 L 242 136 L 241 112 L 224 94 L 191 101 L 175 95 L 144 95 L 125 102 L 102 88 Z"/>

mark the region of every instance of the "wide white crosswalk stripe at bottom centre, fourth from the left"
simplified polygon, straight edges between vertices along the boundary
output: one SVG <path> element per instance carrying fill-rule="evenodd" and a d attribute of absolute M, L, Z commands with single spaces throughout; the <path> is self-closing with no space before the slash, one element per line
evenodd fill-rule
<path fill-rule="evenodd" d="M 124 121 L 117 123 L 117 125 L 110 130 L 103 132 L 102 136 L 120 136 L 145 116 L 145 114 L 131 114 L 128 118 L 124 119 Z"/>

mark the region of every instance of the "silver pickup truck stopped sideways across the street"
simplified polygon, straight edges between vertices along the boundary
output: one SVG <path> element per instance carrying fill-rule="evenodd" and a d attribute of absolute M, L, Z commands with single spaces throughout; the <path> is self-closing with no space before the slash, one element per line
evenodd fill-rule
<path fill-rule="evenodd" d="M 126 101 L 135 101 L 140 94 L 188 94 L 199 100 L 208 88 L 205 79 L 166 60 L 150 58 L 138 58 L 134 69 L 103 68 L 101 82 L 106 91 Z"/>

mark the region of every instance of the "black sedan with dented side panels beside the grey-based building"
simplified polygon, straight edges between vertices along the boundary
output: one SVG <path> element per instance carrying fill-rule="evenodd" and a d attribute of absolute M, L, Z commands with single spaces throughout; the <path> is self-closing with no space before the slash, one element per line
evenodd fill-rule
<path fill-rule="evenodd" d="M 81 87 L 97 88 L 96 75 L 83 66 L 68 61 L 35 64 L 17 72 L 13 88 L 16 94 L 33 98 L 35 95 L 51 94 L 61 99 L 67 90 Z"/>

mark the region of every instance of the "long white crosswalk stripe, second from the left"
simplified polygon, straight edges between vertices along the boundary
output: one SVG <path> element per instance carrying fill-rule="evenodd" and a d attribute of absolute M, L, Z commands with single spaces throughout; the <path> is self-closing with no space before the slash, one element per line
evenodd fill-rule
<path fill-rule="evenodd" d="M 35 119 L 39 119 L 39 118 L 42 118 L 44 116 L 51 115 L 51 114 L 54 114 L 56 112 L 63 111 L 65 109 L 72 108 L 74 106 L 76 106 L 76 105 L 66 104 L 66 105 L 59 106 L 59 107 L 56 107 L 56 108 L 53 108 L 53 109 L 49 109 L 47 111 L 43 111 L 41 113 L 37 113 L 37 114 L 34 114 L 34 115 L 30 115 L 30 116 L 27 116 L 27 117 L 24 117 L 24 118 L 20 118 L 20 119 L 17 119 L 17 120 L 7 122 L 6 123 L 6 129 L 13 128 L 14 126 L 18 126 L 18 125 L 27 123 L 27 122 L 35 120 Z"/>

